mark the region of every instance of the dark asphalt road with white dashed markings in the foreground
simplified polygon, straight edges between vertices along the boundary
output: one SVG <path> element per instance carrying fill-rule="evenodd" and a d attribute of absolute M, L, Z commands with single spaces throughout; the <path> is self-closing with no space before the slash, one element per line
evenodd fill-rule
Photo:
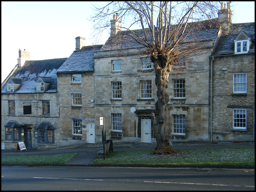
<path fill-rule="evenodd" d="M 2 166 L 2 190 L 255 190 L 254 169 Z"/>

